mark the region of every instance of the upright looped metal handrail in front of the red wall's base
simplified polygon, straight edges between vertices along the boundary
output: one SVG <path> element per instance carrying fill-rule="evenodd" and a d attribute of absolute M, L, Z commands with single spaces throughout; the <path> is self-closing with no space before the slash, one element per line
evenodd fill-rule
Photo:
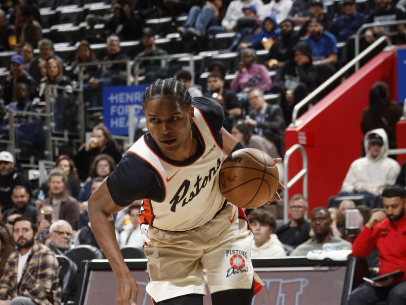
<path fill-rule="evenodd" d="M 288 180 L 289 175 L 289 159 L 290 156 L 299 149 L 303 168 L 290 180 Z M 285 159 L 283 160 L 283 184 L 285 186 L 285 193 L 283 194 L 283 221 L 287 223 L 288 221 L 288 204 L 289 204 L 289 189 L 301 178 L 303 177 L 303 197 L 308 200 L 308 157 L 306 155 L 306 150 L 300 144 L 294 144 L 285 153 Z"/>

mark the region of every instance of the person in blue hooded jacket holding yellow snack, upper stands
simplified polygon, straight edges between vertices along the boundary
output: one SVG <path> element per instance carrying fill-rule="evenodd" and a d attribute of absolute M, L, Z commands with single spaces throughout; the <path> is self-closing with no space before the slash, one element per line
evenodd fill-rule
<path fill-rule="evenodd" d="M 255 34 L 249 43 L 240 43 L 239 49 L 254 48 L 269 50 L 278 36 L 278 23 L 273 16 L 267 16 L 261 24 L 261 32 Z"/>

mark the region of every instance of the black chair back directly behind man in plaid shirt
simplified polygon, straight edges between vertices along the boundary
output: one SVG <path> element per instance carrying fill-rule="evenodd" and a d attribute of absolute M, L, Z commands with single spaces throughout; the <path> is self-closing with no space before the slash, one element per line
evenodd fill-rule
<path fill-rule="evenodd" d="M 73 260 L 64 255 L 55 255 L 59 263 L 59 282 L 62 288 L 62 303 L 66 303 L 76 291 L 78 268 Z"/>

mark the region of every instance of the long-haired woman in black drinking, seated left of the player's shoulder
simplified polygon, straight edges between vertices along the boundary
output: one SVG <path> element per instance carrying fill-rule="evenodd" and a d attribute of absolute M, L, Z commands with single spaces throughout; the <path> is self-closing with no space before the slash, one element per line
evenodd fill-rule
<path fill-rule="evenodd" d="M 90 164 L 99 154 L 107 154 L 113 158 L 115 164 L 121 160 L 121 151 L 107 127 L 100 123 L 93 128 L 92 136 L 82 144 L 75 156 L 75 164 L 80 180 L 85 180 L 89 175 Z"/>

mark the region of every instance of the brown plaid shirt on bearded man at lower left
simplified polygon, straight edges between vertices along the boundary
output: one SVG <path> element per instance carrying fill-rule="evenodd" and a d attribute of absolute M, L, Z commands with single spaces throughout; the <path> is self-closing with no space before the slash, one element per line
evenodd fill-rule
<path fill-rule="evenodd" d="M 12 252 L 7 260 L 0 279 L 0 299 L 25 296 L 39 305 L 60 304 L 59 264 L 54 253 L 44 245 L 34 243 L 20 283 L 17 283 L 18 254 L 18 251 Z"/>

